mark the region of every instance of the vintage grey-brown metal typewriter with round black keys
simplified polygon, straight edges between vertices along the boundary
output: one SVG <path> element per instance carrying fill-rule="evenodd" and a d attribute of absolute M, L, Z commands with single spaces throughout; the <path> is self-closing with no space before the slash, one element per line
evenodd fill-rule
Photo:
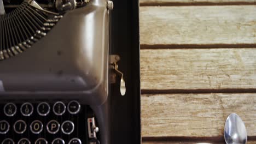
<path fill-rule="evenodd" d="M 1 144 L 117 143 L 113 99 L 129 94 L 124 53 L 110 52 L 112 9 L 106 0 L 0 0 Z M 139 119 L 138 100 L 129 112 Z"/>

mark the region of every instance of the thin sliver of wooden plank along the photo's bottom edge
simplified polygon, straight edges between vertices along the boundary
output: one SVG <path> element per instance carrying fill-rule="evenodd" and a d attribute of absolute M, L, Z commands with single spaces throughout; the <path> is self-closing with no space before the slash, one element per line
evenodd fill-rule
<path fill-rule="evenodd" d="M 256 141 L 248 141 L 247 144 L 255 144 Z M 205 142 L 205 141 L 142 141 L 142 144 L 225 144 L 225 142 Z"/>

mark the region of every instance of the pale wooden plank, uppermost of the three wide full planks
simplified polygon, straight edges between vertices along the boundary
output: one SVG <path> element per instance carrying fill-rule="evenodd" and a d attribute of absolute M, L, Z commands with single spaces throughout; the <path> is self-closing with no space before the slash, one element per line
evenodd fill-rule
<path fill-rule="evenodd" d="M 256 5 L 141 7 L 142 45 L 255 44 Z"/>

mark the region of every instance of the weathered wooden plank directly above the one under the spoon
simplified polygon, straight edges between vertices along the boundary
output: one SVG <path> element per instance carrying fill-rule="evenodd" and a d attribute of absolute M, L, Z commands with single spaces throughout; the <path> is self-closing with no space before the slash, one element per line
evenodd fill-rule
<path fill-rule="evenodd" d="M 142 89 L 256 88 L 256 49 L 141 50 Z"/>

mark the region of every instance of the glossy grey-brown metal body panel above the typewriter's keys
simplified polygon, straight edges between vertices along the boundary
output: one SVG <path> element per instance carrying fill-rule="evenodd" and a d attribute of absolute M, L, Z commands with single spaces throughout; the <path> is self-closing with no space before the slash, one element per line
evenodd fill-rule
<path fill-rule="evenodd" d="M 0 62 L 1 99 L 102 104 L 108 94 L 108 25 L 103 1 L 67 13 L 26 52 Z"/>

